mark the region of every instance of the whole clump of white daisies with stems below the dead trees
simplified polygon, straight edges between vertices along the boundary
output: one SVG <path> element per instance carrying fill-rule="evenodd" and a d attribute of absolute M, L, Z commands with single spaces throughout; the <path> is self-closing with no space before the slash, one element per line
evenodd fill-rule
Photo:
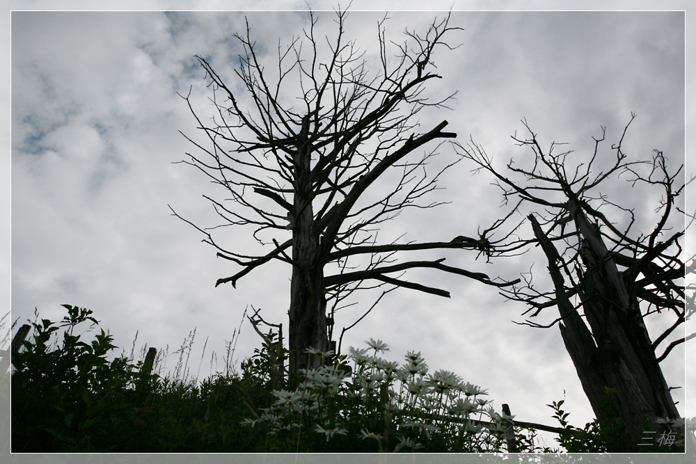
<path fill-rule="evenodd" d="M 327 445 L 344 440 L 351 451 L 503 449 L 503 417 L 484 398 L 486 390 L 450 371 L 429 374 L 420 352 L 409 351 L 400 365 L 381 358 L 389 351 L 381 340 L 365 343 L 349 348 L 339 365 L 303 371 L 295 390 L 274 390 L 274 404 L 240 424 L 264 424 L 271 436 L 290 432 Z M 310 353 L 334 359 L 333 352 Z"/>

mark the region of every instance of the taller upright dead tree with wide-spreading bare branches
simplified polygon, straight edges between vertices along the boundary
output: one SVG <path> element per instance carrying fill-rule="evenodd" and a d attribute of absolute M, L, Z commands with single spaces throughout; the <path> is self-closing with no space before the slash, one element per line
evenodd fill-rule
<path fill-rule="evenodd" d="M 194 225 L 218 250 L 218 257 L 242 267 L 216 285 L 236 286 L 271 260 L 292 266 L 291 373 L 319 365 L 319 357 L 306 349 L 331 349 L 327 305 L 335 308 L 351 291 L 386 285 L 449 296 L 443 289 L 402 278 L 416 268 L 509 285 L 446 266 L 444 258 L 395 262 L 395 253 L 409 250 L 477 249 L 482 246 L 478 239 L 377 243 L 376 227 L 403 209 L 436 206 L 419 201 L 436 188 L 441 173 L 459 161 L 429 172 L 438 147 L 456 134 L 443 131 L 445 120 L 419 132 L 415 118 L 427 106 L 444 107 L 450 98 L 432 102 L 424 90 L 426 83 L 440 77 L 434 72 L 435 49 L 452 49 L 443 36 L 459 28 L 449 25 L 448 16 L 435 19 L 422 34 L 407 29 L 406 40 L 395 45 L 395 56 L 390 56 L 385 17 L 377 23 L 380 63 L 373 72 L 354 42 L 345 38 L 347 14 L 335 15 L 335 38 L 315 37 L 317 17 L 310 12 L 303 37 L 279 46 L 269 67 L 262 64 L 247 23 L 246 34 L 235 35 L 244 47 L 235 70 L 241 88 L 228 85 L 206 58 L 196 56 L 213 92 L 212 122 L 193 110 L 190 93 L 184 97 L 207 137 L 205 143 L 187 137 L 207 159 L 187 153 L 184 162 L 229 195 L 225 201 L 205 197 L 224 224 L 253 227 L 260 249 L 269 247 L 257 254 L 230 250 L 209 229 Z M 396 181 L 385 185 L 383 177 Z M 379 189 L 368 191 L 376 185 Z"/>

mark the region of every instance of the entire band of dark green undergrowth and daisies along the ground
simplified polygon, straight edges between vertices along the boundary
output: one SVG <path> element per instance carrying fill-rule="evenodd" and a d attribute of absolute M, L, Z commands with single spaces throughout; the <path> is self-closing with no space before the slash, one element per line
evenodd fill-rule
<path fill-rule="evenodd" d="M 301 378 L 283 378 L 287 351 L 269 334 L 242 362 L 203 381 L 141 375 L 92 312 L 63 305 L 60 323 L 40 319 L 24 351 L 13 355 L 13 452 L 486 452 L 505 451 L 505 418 L 485 390 L 448 371 L 427 374 L 420 353 L 398 365 L 378 356 L 372 339 L 348 355 L 312 351 L 326 361 Z M 87 326 L 85 330 L 81 327 Z M 56 341 L 56 340 L 59 340 Z M 52 343 L 53 341 L 53 343 Z M 190 349 L 192 339 L 187 346 Z M 178 353 L 184 353 L 182 347 Z M 182 354 L 183 355 L 183 354 Z M 157 361 L 156 361 L 157 363 Z M 351 372 L 348 373 L 348 365 Z M 157 371 L 157 369 L 153 369 Z M 611 392 L 607 392 L 610 408 Z M 553 402 L 567 451 L 619 451 L 620 419 L 594 421 L 578 431 L 563 401 Z M 610 409 L 608 409 L 610 411 Z M 483 422 L 480 422 L 483 421 Z M 512 431 L 521 452 L 537 447 L 533 430 Z M 648 451 L 644 449 L 644 451 Z M 654 450 L 651 450 L 654 451 Z M 661 450 L 664 451 L 664 450 Z"/>

